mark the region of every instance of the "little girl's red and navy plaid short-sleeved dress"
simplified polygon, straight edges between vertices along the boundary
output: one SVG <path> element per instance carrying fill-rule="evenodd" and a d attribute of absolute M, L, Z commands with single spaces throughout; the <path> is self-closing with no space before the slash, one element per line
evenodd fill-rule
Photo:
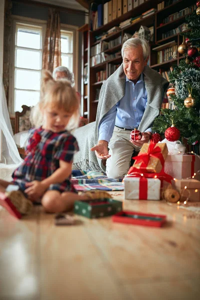
<path fill-rule="evenodd" d="M 73 154 L 79 150 L 75 137 L 66 130 L 55 133 L 40 127 L 30 129 L 29 133 L 24 161 L 12 173 L 12 182 L 22 191 L 26 189 L 26 182 L 49 177 L 59 168 L 60 159 L 71 162 Z M 48 190 L 74 191 L 70 177 L 50 184 Z"/>

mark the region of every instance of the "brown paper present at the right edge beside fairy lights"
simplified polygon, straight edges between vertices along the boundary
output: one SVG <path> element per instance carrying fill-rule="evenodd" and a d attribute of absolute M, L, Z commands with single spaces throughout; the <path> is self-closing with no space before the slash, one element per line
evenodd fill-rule
<path fill-rule="evenodd" d="M 175 189 L 180 192 L 181 200 L 188 197 L 190 201 L 200 201 L 200 181 L 195 179 L 176 179 L 173 181 Z"/>

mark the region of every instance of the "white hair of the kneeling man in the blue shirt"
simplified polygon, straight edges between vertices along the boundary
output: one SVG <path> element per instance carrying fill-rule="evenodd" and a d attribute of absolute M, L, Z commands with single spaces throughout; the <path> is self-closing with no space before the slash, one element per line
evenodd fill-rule
<path fill-rule="evenodd" d="M 123 43 L 122 48 L 121 48 L 122 58 L 123 58 L 125 49 L 136 48 L 138 46 L 142 46 L 143 57 L 144 57 L 144 59 L 146 59 L 149 55 L 149 44 L 146 39 L 140 39 L 138 37 L 129 38 Z"/>

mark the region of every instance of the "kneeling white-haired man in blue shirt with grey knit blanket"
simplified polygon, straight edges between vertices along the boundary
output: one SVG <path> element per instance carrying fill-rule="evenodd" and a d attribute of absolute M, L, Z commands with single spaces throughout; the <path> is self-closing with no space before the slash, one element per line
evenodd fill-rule
<path fill-rule="evenodd" d="M 124 176 L 134 151 L 148 142 L 151 124 L 159 114 L 168 86 L 168 81 L 147 66 L 149 45 L 146 40 L 128 39 L 121 55 L 122 64 L 101 87 L 95 123 L 84 126 L 84 138 L 81 128 L 74 134 L 80 152 L 74 157 L 73 167 L 103 170 L 110 178 Z M 142 132 L 141 140 L 130 141 L 133 128 Z M 91 146 L 90 152 L 88 146 Z"/>

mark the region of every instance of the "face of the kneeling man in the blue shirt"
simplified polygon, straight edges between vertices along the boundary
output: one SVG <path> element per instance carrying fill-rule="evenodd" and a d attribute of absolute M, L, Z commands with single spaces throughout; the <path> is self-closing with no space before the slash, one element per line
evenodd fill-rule
<path fill-rule="evenodd" d="M 123 70 L 126 77 L 131 81 L 139 79 L 148 57 L 144 60 L 142 46 L 126 48 L 123 53 Z"/>

